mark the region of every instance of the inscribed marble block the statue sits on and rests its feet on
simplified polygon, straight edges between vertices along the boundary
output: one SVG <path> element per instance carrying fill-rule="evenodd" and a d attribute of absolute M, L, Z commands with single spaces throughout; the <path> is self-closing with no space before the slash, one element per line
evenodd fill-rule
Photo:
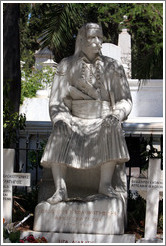
<path fill-rule="evenodd" d="M 118 200 L 116 197 L 109 198 L 97 194 L 99 177 L 99 168 L 87 171 L 69 169 L 66 179 L 68 200 L 50 205 L 48 202 L 42 201 L 47 200 L 54 190 L 51 173 L 47 173 L 47 181 L 43 184 L 45 187 L 41 189 L 44 190 L 44 194 L 39 194 L 42 202 L 36 207 L 34 231 L 124 234 L 127 219 L 125 166 L 122 169 L 117 165 L 114 173 L 114 187 L 119 189 L 122 194 Z M 119 180 L 118 183 L 116 182 L 117 179 Z M 42 223 L 42 221 L 46 223 Z"/>

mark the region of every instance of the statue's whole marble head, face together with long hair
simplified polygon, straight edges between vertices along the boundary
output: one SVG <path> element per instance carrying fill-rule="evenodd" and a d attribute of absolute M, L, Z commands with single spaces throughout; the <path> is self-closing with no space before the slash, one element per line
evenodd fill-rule
<path fill-rule="evenodd" d="M 80 51 L 84 53 L 100 53 L 102 42 L 102 27 L 96 23 L 87 23 L 78 31 L 75 54 L 78 55 Z"/>

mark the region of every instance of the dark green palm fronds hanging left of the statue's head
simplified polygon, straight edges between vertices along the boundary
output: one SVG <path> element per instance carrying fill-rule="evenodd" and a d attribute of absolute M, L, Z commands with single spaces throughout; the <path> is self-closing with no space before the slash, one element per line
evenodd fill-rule
<path fill-rule="evenodd" d="M 82 23 L 82 4 L 59 3 L 50 6 L 39 39 L 41 47 L 48 46 L 59 62 L 62 57 L 74 53 L 75 37 L 79 23 Z"/>

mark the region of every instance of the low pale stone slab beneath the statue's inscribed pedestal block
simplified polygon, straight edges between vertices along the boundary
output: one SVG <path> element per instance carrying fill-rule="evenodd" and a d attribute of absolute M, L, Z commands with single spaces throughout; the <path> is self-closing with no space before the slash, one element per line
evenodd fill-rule
<path fill-rule="evenodd" d="M 104 234 L 76 234 L 54 232 L 21 232 L 21 239 L 29 235 L 35 238 L 45 237 L 48 243 L 135 243 L 135 235 L 104 235 Z"/>

